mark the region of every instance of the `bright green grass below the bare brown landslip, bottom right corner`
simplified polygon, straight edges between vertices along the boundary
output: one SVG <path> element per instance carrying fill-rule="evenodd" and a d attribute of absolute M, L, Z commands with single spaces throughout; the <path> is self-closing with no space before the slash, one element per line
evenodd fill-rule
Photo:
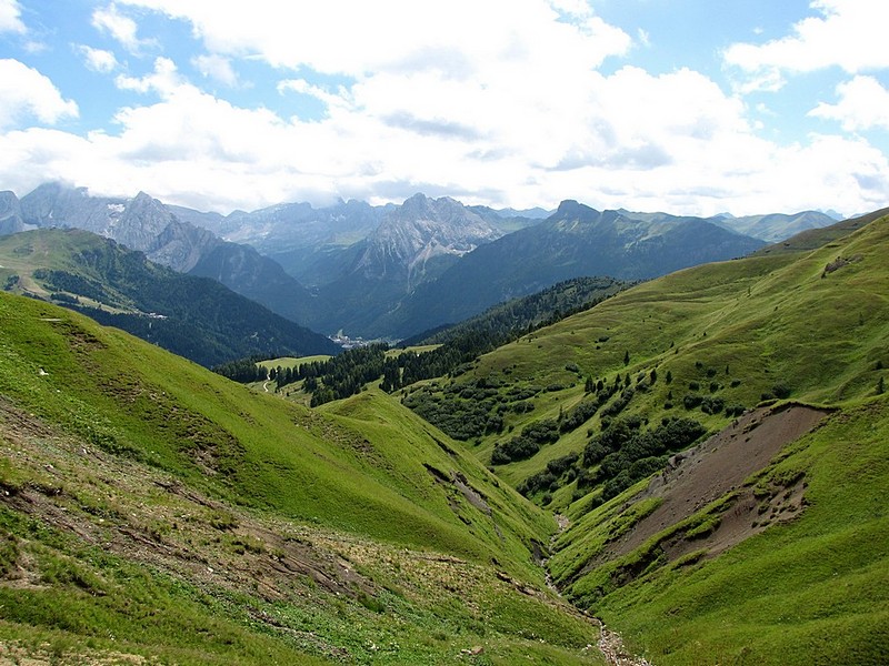
<path fill-rule="evenodd" d="M 889 402 L 829 416 L 761 483 L 800 474 L 807 507 L 796 521 L 713 559 L 652 567 L 601 598 L 591 581 L 572 588 L 655 664 L 886 664 Z M 553 561 L 556 571 L 571 564 Z"/>

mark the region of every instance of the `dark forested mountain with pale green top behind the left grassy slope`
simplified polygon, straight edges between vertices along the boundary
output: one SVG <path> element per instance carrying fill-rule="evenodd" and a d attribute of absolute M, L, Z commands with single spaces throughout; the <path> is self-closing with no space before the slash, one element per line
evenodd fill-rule
<path fill-rule="evenodd" d="M 206 366 L 340 351 L 214 280 L 178 273 L 79 229 L 0 238 L 0 266 L 7 291 L 79 310 Z"/>

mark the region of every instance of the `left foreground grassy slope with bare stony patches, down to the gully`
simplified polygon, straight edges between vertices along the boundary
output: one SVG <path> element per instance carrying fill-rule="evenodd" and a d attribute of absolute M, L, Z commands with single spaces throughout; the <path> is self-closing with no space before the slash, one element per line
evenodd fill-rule
<path fill-rule="evenodd" d="M 382 393 L 312 413 L 0 294 L 0 395 L 16 658 L 596 663 L 551 518 Z"/>

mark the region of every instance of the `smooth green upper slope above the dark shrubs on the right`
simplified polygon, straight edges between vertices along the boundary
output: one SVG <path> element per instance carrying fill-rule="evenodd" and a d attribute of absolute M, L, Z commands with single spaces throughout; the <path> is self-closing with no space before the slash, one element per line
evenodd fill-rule
<path fill-rule="evenodd" d="M 685 394 L 707 395 L 711 389 L 726 404 L 746 407 L 776 384 L 811 403 L 857 401 L 875 393 L 882 366 L 889 366 L 887 252 L 889 222 L 882 218 L 815 251 L 680 271 L 505 345 L 451 382 L 483 377 L 500 384 L 501 393 L 543 389 L 529 400 L 533 411 L 506 413 L 512 433 L 570 410 L 585 396 L 585 377 L 608 384 L 618 374 L 629 374 L 633 386 L 646 377 L 649 385 L 636 392 L 622 415 L 649 423 L 688 415 L 720 427 L 730 417 L 682 408 Z M 838 258 L 842 265 L 826 272 Z M 444 385 L 440 381 L 431 390 Z M 665 408 L 667 403 L 672 408 Z M 550 460 L 581 451 L 588 430 L 599 424 L 597 414 L 530 460 L 499 466 L 498 474 L 518 485 Z M 470 441 L 470 450 L 487 463 L 493 445 L 507 437 L 488 434 Z"/>

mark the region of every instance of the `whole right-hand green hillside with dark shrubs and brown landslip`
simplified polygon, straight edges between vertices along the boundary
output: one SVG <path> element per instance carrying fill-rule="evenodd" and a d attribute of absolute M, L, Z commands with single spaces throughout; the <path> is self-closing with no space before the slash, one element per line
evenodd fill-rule
<path fill-rule="evenodd" d="M 556 583 L 656 664 L 889 655 L 878 500 L 889 491 L 889 219 L 843 230 L 813 250 L 806 241 L 640 284 L 402 394 L 458 436 L 483 425 L 468 451 L 571 525 L 550 559 Z M 713 434 L 746 410 L 790 403 L 831 413 L 796 442 L 772 435 L 775 451 L 785 445 L 773 463 L 649 525 L 668 501 L 652 472 L 675 470 L 659 483 L 693 476 L 670 458 L 689 442 L 667 425 L 692 420 Z M 779 416 L 743 418 L 752 430 Z M 752 455 L 731 460 L 718 442 L 696 455 L 736 466 Z"/>

